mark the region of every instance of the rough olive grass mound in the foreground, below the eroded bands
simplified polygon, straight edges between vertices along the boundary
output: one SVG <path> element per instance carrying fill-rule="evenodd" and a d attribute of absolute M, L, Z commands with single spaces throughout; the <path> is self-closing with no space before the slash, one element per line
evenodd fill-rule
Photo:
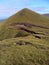
<path fill-rule="evenodd" d="M 49 65 L 49 43 L 28 38 L 1 41 L 0 65 Z"/>

